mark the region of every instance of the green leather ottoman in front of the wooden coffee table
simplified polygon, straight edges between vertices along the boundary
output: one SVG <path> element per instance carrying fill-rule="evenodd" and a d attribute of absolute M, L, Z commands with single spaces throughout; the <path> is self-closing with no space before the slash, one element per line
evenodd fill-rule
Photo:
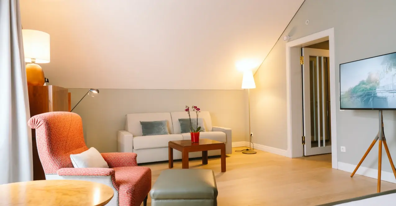
<path fill-rule="evenodd" d="M 150 197 L 151 206 L 217 206 L 215 174 L 201 169 L 165 170 Z"/>

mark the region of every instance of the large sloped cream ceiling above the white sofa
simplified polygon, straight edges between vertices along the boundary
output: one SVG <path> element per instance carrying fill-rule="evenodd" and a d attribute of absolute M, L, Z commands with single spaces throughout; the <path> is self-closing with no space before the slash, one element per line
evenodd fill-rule
<path fill-rule="evenodd" d="M 240 89 L 303 0 L 21 0 L 51 38 L 50 83 L 67 88 Z M 253 67 L 252 66 L 252 67 Z"/>

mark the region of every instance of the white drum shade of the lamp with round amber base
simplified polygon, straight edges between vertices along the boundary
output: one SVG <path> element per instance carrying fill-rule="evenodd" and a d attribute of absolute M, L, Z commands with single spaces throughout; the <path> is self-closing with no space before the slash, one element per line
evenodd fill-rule
<path fill-rule="evenodd" d="M 25 62 L 49 62 L 49 34 L 37 30 L 22 29 Z"/>

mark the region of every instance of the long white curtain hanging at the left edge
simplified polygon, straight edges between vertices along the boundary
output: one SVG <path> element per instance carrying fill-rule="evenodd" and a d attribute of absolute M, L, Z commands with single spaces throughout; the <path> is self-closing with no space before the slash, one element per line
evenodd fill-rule
<path fill-rule="evenodd" d="M 33 180 L 19 0 L 0 0 L 0 184 Z"/>

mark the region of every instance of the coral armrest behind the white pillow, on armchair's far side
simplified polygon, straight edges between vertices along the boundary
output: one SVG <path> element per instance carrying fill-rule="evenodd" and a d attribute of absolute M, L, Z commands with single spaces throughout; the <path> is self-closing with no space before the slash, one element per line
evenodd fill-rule
<path fill-rule="evenodd" d="M 136 153 L 131 152 L 110 152 L 101 153 L 103 159 L 107 162 L 110 168 L 123 166 L 137 166 Z"/>

